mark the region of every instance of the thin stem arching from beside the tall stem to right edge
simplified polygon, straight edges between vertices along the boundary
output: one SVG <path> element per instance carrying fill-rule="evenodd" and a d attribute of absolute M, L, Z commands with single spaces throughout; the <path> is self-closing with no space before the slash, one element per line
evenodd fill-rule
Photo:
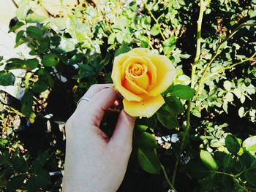
<path fill-rule="evenodd" d="M 211 58 L 211 60 L 208 62 L 208 64 L 206 64 L 206 68 L 203 70 L 202 77 L 200 78 L 199 83 L 198 83 L 198 88 L 197 88 L 196 95 L 198 95 L 198 93 L 200 93 L 200 88 L 203 84 L 203 79 L 206 76 L 206 72 L 207 72 L 208 68 L 211 66 L 211 64 L 214 62 L 214 59 L 217 57 L 217 55 L 219 55 L 219 50 L 222 48 L 223 43 L 227 42 L 228 39 L 233 37 L 233 35 L 236 34 L 237 31 L 239 31 L 241 28 L 244 28 L 245 26 L 256 26 L 256 23 L 242 23 L 240 26 L 235 28 L 234 31 L 232 31 L 230 35 L 228 35 L 225 39 L 223 39 L 222 42 L 219 43 L 219 46 L 217 47 L 216 53 Z"/>

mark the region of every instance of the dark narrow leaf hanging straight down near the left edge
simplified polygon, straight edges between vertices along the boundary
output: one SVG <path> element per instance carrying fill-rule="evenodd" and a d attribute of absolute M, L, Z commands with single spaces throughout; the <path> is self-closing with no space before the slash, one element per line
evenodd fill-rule
<path fill-rule="evenodd" d="M 31 91 L 26 91 L 21 99 L 21 112 L 29 118 L 32 112 L 33 104 L 33 93 Z"/>

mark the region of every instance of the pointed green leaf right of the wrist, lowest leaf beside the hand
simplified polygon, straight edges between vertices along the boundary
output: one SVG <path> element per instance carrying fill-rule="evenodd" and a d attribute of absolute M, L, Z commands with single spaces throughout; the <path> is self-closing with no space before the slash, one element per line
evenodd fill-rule
<path fill-rule="evenodd" d="M 138 148 L 137 152 L 138 163 L 141 168 L 151 174 L 159 174 L 160 161 L 154 150 L 142 150 Z"/>

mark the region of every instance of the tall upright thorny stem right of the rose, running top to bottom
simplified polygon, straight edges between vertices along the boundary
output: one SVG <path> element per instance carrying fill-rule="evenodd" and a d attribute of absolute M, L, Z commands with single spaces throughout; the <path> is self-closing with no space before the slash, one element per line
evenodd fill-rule
<path fill-rule="evenodd" d="M 195 53 L 195 61 L 192 64 L 191 88 L 195 87 L 195 69 L 196 69 L 196 64 L 199 61 L 199 57 L 200 57 L 200 53 L 201 53 L 201 41 L 202 41 L 201 28 L 202 28 L 202 21 L 203 21 L 203 12 L 206 10 L 206 5 L 207 4 L 208 4 L 208 1 L 200 0 L 200 11 L 199 11 L 199 16 L 198 16 L 198 20 L 197 20 L 197 49 L 196 49 L 196 53 Z M 180 150 L 179 150 L 180 153 L 182 153 L 182 151 L 184 149 L 184 144 L 185 144 L 186 139 L 187 139 L 187 134 L 189 133 L 191 103 L 192 103 L 192 100 L 189 99 L 188 104 L 187 104 L 187 120 L 186 120 L 187 125 L 186 125 L 184 135 L 183 135 L 182 140 L 181 140 L 181 147 L 180 147 Z M 173 185 L 175 183 L 179 161 L 180 161 L 180 155 L 178 155 L 178 157 L 176 159 L 176 164 L 175 164 L 174 169 L 173 169 L 173 180 L 172 180 Z"/>

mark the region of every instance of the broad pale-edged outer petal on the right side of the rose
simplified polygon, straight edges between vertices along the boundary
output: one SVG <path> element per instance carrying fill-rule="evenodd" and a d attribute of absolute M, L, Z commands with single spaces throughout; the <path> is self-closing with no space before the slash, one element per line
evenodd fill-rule
<path fill-rule="evenodd" d="M 176 75 L 176 69 L 170 59 L 164 55 L 149 55 L 150 60 L 157 68 L 157 83 L 154 88 L 148 91 L 148 96 L 157 96 L 164 92 L 173 82 Z"/>

